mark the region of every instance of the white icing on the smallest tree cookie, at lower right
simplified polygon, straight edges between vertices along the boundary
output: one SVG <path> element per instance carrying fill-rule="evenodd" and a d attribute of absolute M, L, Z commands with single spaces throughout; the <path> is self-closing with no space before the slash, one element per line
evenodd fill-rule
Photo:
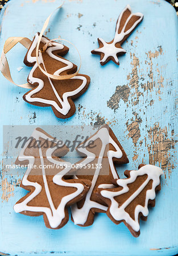
<path fill-rule="evenodd" d="M 140 185 L 140 187 L 133 193 L 133 195 L 131 195 L 125 201 L 125 203 L 119 206 L 117 201 L 115 201 L 114 197 L 127 193 L 129 191 L 129 187 L 127 186 L 127 184 L 133 183 L 136 180 L 136 177 L 144 174 L 147 174 L 147 179 L 144 181 L 144 183 Z M 135 232 L 138 232 L 140 229 L 139 218 L 138 218 L 139 213 L 142 213 L 143 216 L 148 216 L 148 201 L 150 199 L 154 200 L 156 197 L 155 188 L 160 183 L 160 175 L 163 175 L 163 171 L 159 167 L 147 164 L 146 166 L 141 167 L 138 171 L 131 171 L 129 179 L 117 180 L 118 186 L 123 187 L 121 191 L 113 192 L 113 191 L 102 190 L 101 195 L 103 197 L 106 197 L 107 199 L 110 199 L 111 201 L 111 205 L 109 208 L 111 216 L 113 216 L 113 218 L 116 221 L 125 220 L 126 223 L 129 224 L 131 228 L 133 228 L 133 230 L 135 230 Z M 131 201 L 133 201 L 139 195 L 139 193 L 142 192 L 142 190 L 146 187 L 146 185 L 150 180 L 152 180 L 152 188 L 148 189 L 146 192 L 144 207 L 142 207 L 142 205 L 139 205 L 139 204 L 136 205 L 136 208 L 134 211 L 135 220 L 133 220 L 133 218 L 130 217 L 129 213 L 127 213 L 125 209 L 131 203 Z"/>

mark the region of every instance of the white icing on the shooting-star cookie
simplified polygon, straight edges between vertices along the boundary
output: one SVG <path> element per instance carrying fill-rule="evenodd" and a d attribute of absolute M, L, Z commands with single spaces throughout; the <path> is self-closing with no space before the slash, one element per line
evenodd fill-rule
<path fill-rule="evenodd" d="M 140 20 L 143 19 L 143 14 L 142 13 L 133 13 L 133 14 L 131 13 L 129 15 L 129 17 L 127 18 L 127 20 L 126 20 L 126 23 L 122 28 L 122 31 L 118 34 L 118 30 L 119 30 L 119 26 L 120 26 L 120 23 L 121 23 L 122 15 L 127 9 L 129 9 L 131 11 L 130 5 L 127 5 L 125 7 L 125 9 L 123 9 L 122 13 L 119 15 L 118 22 L 117 22 L 117 25 L 116 25 L 116 30 L 115 30 L 115 36 L 114 36 L 114 39 L 113 39 L 113 43 L 106 43 L 102 38 L 98 39 L 103 44 L 103 47 L 98 48 L 98 49 L 94 49 L 94 51 L 104 53 L 104 57 L 102 58 L 102 60 L 100 60 L 100 63 L 104 63 L 107 60 L 107 58 L 110 57 L 110 56 L 114 58 L 116 63 L 119 63 L 117 54 L 118 53 L 126 53 L 125 49 L 117 48 L 117 47 L 115 47 L 115 44 L 121 42 L 126 35 L 130 34 L 130 32 L 134 30 L 134 28 L 137 26 L 137 24 L 140 22 Z M 125 28 L 126 28 L 128 22 L 129 22 L 129 20 L 134 15 L 140 16 L 140 18 L 138 20 L 136 20 L 136 22 L 133 24 L 133 26 L 129 30 L 125 31 Z"/>

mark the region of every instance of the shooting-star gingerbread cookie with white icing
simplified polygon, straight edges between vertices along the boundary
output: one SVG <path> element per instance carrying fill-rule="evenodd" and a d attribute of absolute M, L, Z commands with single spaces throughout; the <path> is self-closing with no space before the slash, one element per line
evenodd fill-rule
<path fill-rule="evenodd" d="M 102 38 L 98 38 L 100 47 L 92 51 L 92 54 L 100 55 L 101 65 L 105 65 L 109 60 L 113 60 L 115 64 L 119 65 L 118 56 L 126 53 L 126 50 L 121 45 L 142 19 L 143 14 L 132 13 L 130 5 L 125 7 L 117 20 L 114 39 L 106 43 Z"/>

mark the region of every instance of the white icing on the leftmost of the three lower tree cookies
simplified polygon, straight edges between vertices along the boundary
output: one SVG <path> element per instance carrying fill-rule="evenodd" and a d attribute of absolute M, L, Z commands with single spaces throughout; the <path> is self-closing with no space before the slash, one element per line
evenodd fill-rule
<path fill-rule="evenodd" d="M 48 141 L 52 141 L 53 139 L 45 135 L 44 133 L 34 130 L 34 132 L 31 135 L 34 139 L 39 140 L 39 138 L 43 139 L 48 139 Z M 63 199 L 61 200 L 59 206 L 57 209 L 55 208 L 55 205 L 53 204 L 51 193 L 49 192 L 49 187 L 47 183 L 47 178 L 45 175 L 45 169 L 44 167 L 44 159 L 43 159 L 43 154 L 42 154 L 42 149 L 39 148 L 39 155 L 40 155 L 40 162 L 42 164 L 42 176 L 43 176 L 43 182 L 44 182 L 44 189 L 45 193 L 47 195 L 47 199 L 50 205 L 50 208 L 48 207 L 33 207 L 27 205 L 32 199 L 34 199 L 35 196 L 37 196 L 41 191 L 42 191 L 42 186 L 36 182 L 31 182 L 28 180 L 28 175 L 30 174 L 32 170 L 32 165 L 35 163 L 35 157 L 34 156 L 27 156 L 24 155 L 24 151 L 26 150 L 29 142 L 26 142 L 26 145 L 23 147 L 22 151 L 19 154 L 18 160 L 23 161 L 23 160 L 28 160 L 29 161 L 29 168 L 26 171 L 26 174 L 24 175 L 22 179 L 22 184 L 24 186 L 32 186 L 35 187 L 35 191 L 31 193 L 24 201 L 21 203 L 15 204 L 14 205 L 14 210 L 15 212 L 23 212 L 23 211 L 30 211 L 30 212 L 43 212 L 46 214 L 49 225 L 51 228 L 57 228 L 61 224 L 61 221 L 63 221 L 65 217 L 65 207 L 69 201 L 80 195 L 84 191 L 84 185 L 81 183 L 68 183 L 63 180 L 63 175 L 67 174 L 71 170 L 71 163 L 68 162 L 59 162 L 55 159 L 52 158 L 52 153 L 56 150 L 57 147 L 53 148 L 48 148 L 46 151 L 45 157 L 47 160 L 51 163 L 55 164 L 60 164 L 60 166 L 67 164 L 67 167 L 64 167 L 64 170 L 60 171 L 58 174 L 56 174 L 53 177 L 53 182 L 56 183 L 57 185 L 64 186 L 64 187 L 73 187 L 76 188 L 77 190 L 70 195 L 64 196 Z M 54 167 L 55 168 L 55 167 Z"/>

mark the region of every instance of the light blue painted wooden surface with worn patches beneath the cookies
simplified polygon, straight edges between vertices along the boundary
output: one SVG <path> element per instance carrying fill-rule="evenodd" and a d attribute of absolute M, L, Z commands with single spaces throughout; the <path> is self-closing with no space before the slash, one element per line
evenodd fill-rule
<path fill-rule="evenodd" d="M 9 36 L 33 38 L 47 16 L 60 5 L 58 0 L 11 0 L 1 12 L 1 50 Z M 129 3 L 144 20 L 123 44 L 127 53 L 120 66 L 101 67 L 97 38 L 109 42 L 115 23 Z M 2 75 L 1 152 L 3 125 L 88 125 L 109 124 L 129 157 L 123 171 L 139 163 L 161 166 L 162 191 L 148 220 L 140 221 L 140 236 L 134 238 L 123 225 L 115 225 L 106 214 L 98 214 L 93 226 L 81 228 L 71 221 L 60 230 L 45 228 L 42 217 L 16 214 L 13 205 L 25 195 L 19 181 L 2 171 L 0 251 L 10 255 L 173 255 L 178 253 L 178 168 L 177 162 L 177 16 L 163 0 L 67 0 L 53 15 L 49 38 L 71 41 L 82 57 L 81 73 L 91 77 L 88 91 L 76 102 L 76 114 L 57 119 L 49 108 L 23 101 L 27 89 L 10 84 Z M 71 48 L 71 46 L 69 46 Z M 16 82 L 25 82 L 30 68 L 24 67 L 26 49 L 16 46 L 8 53 Z M 77 64 L 71 51 L 67 59 Z M 17 68 L 22 66 L 22 71 Z M 28 134 L 29 135 L 29 134 Z M 22 176 L 21 176 L 22 177 Z M 16 177 L 17 179 L 21 178 Z"/>

